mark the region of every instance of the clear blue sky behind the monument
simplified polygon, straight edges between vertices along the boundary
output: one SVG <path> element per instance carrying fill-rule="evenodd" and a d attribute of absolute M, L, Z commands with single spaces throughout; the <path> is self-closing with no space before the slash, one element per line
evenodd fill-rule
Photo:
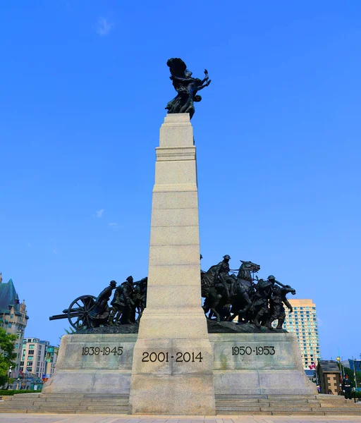
<path fill-rule="evenodd" d="M 361 353 L 359 1 L 2 2 L 0 271 L 50 322 L 147 275 L 166 61 L 209 71 L 192 125 L 207 269 L 229 254 L 317 304 L 322 358 Z"/>

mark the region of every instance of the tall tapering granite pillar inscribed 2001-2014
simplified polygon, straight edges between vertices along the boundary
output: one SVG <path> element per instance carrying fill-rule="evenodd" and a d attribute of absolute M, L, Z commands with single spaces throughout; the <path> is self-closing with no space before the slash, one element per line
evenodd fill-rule
<path fill-rule="evenodd" d="M 214 415 L 213 354 L 200 292 L 197 166 L 189 114 L 168 114 L 156 149 L 147 308 L 130 413 Z"/>

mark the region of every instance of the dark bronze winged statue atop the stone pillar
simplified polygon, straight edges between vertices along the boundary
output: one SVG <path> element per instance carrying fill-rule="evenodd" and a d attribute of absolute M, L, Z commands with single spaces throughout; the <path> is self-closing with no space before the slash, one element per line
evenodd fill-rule
<path fill-rule="evenodd" d="M 189 113 L 190 119 L 195 114 L 195 102 L 200 102 L 202 97 L 197 92 L 208 87 L 211 80 L 208 76 L 207 69 L 204 69 L 204 79 L 192 78 L 192 72 L 182 59 L 169 59 L 166 62 L 171 71 L 171 80 L 173 87 L 178 93 L 167 105 L 168 113 Z"/>

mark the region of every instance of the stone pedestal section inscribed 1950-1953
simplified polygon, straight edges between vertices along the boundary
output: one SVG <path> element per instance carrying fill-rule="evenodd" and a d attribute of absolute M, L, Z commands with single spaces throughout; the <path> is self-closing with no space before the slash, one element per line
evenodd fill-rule
<path fill-rule="evenodd" d="M 216 395 L 317 393 L 305 375 L 294 333 L 209 333 Z"/>

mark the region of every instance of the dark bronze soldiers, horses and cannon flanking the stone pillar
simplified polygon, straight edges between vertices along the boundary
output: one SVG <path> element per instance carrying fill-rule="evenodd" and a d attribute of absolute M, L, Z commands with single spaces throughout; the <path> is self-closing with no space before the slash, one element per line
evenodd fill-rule
<path fill-rule="evenodd" d="M 263 326 L 267 330 L 273 330 L 272 322 L 277 320 L 276 329 L 282 329 L 286 318 L 283 305 L 292 312 L 286 295 L 295 295 L 295 290 L 276 281 L 272 275 L 267 279 L 257 278 L 255 274 L 260 266 L 253 262 L 240 260 L 238 271 L 231 270 L 230 259 L 229 255 L 225 255 L 219 264 L 208 271 L 201 271 L 204 314 L 209 320 L 228 321 L 230 324 L 238 317 L 239 324 L 250 323 L 255 329 Z M 126 327 L 124 325 L 139 323 L 146 305 L 147 278 L 135 282 L 133 276 L 128 276 L 118 287 L 116 281 L 111 281 L 97 297 L 81 295 L 63 310 L 63 314 L 49 319 L 68 318 L 76 331 L 102 330 L 105 326 Z"/>

